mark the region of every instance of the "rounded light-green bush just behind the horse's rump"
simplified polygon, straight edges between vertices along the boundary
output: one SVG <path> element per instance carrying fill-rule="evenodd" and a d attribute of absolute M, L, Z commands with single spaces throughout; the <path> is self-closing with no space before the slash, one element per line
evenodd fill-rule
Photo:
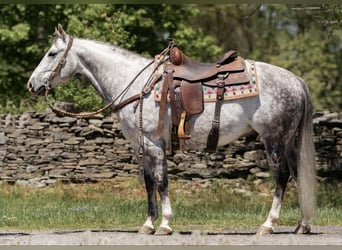
<path fill-rule="evenodd" d="M 305 79 L 316 110 L 324 110 L 334 107 L 334 100 L 339 95 L 337 90 L 333 89 L 339 72 L 334 63 L 334 55 L 327 51 L 326 40 L 312 38 L 312 35 L 304 34 L 296 40 L 281 44 L 281 53 L 270 56 L 270 62 Z"/>

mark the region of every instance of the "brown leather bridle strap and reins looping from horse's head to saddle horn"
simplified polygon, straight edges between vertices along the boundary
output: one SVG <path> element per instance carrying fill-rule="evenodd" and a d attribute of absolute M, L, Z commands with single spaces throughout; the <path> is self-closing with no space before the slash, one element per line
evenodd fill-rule
<path fill-rule="evenodd" d="M 127 91 L 129 90 L 129 88 L 133 85 L 133 83 L 136 81 L 136 79 L 149 67 L 151 66 L 153 63 L 154 63 L 154 60 L 152 60 L 151 62 L 149 62 L 142 70 L 139 71 L 139 73 L 133 78 L 133 80 L 127 85 L 127 87 L 116 97 L 114 98 L 112 101 L 110 101 L 108 104 L 106 104 L 105 106 L 103 106 L 102 108 L 94 111 L 94 112 L 81 112 L 81 113 L 73 113 L 73 112 L 68 112 L 66 110 L 63 110 L 63 109 L 59 109 L 59 108 L 56 108 L 54 107 L 49 98 L 48 98 L 48 95 L 50 93 L 50 91 L 52 90 L 51 88 L 51 82 L 53 81 L 53 79 L 59 75 L 61 73 L 61 70 L 62 68 L 64 67 L 65 65 L 65 62 L 66 62 L 66 58 L 68 56 L 68 53 L 71 49 L 71 46 L 73 44 L 73 37 L 70 37 L 69 38 L 69 42 L 68 42 L 68 45 L 67 45 L 67 48 L 66 50 L 64 51 L 64 54 L 62 56 L 62 58 L 59 60 L 56 68 L 52 71 L 49 79 L 48 79 L 48 82 L 46 84 L 46 91 L 45 91 L 45 102 L 46 104 L 50 107 L 50 109 L 55 112 L 55 113 L 58 113 L 58 114 L 62 114 L 62 115 L 66 115 L 66 116 L 70 116 L 70 117 L 75 117 L 75 118 L 89 118 L 89 117 L 93 117 L 101 112 L 103 112 L 104 110 L 110 108 L 112 106 L 112 110 L 113 112 L 117 112 L 119 111 L 121 108 L 125 107 L 126 105 L 134 102 L 134 101 L 138 101 L 140 100 L 136 106 L 138 104 L 140 104 L 140 106 L 142 107 L 142 100 L 143 100 L 143 97 L 147 94 L 149 94 L 151 91 L 152 91 L 152 86 L 160 79 L 161 75 L 155 75 L 155 72 L 156 70 L 158 69 L 158 67 L 164 63 L 164 60 L 163 59 L 160 59 L 158 60 L 153 72 L 151 73 L 150 77 L 148 78 L 148 81 L 146 82 L 146 84 L 144 85 L 141 93 L 139 94 L 136 94 L 134 96 L 131 96 L 123 101 L 121 101 L 119 104 L 117 105 L 114 105 L 114 103 L 120 98 L 120 97 L 123 97 Z M 170 44 L 166 49 L 164 49 L 161 53 L 160 53 L 160 57 L 159 58 L 164 58 L 165 55 L 168 54 L 168 52 L 170 51 L 170 49 L 172 48 L 173 46 L 173 43 Z"/>

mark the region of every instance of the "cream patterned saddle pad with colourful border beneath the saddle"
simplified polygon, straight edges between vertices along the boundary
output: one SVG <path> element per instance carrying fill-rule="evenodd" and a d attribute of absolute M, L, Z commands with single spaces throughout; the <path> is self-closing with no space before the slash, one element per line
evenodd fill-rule
<path fill-rule="evenodd" d="M 242 84 L 234 84 L 225 86 L 224 100 L 234 100 L 246 97 L 257 96 L 259 94 L 258 80 L 256 74 L 256 67 L 254 61 L 251 61 L 251 78 L 250 82 Z M 163 81 L 159 81 L 154 86 L 154 100 L 160 102 L 161 93 L 163 88 Z M 203 101 L 204 102 L 216 102 L 217 87 L 206 86 L 205 83 L 202 84 L 203 90 Z M 176 88 L 175 91 L 179 91 Z M 170 102 L 170 98 L 167 98 Z"/>

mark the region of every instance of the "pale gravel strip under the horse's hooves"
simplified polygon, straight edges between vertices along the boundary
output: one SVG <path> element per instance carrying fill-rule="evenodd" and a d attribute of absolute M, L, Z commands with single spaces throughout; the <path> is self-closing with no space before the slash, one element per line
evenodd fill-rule
<path fill-rule="evenodd" d="M 0 231 L 0 245 L 342 245 L 341 226 L 314 226 L 309 235 L 282 226 L 269 236 L 256 236 L 256 230 L 177 231 L 170 236 L 120 230 Z"/>

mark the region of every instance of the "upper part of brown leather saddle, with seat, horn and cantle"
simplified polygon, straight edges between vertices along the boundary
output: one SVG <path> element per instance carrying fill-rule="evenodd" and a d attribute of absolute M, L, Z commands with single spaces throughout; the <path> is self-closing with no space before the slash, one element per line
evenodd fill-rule
<path fill-rule="evenodd" d="M 170 60 L 174 65 L 173 78 L 175 80 L 185 80 L 189 83 L 205 82 L 207 85 L 216 85 L 215 82 L 210 81 L 217 79 L 219 74 L 226 75 L 227 80 L 225 83 L 227 85 L 249 80 L 244 72 L 244 61 L 237 56 L 235 50 L 225 53 L 216 63 L 203 63 L 192 60 L 183 54 L 180 49 L 174 47 L 170 51 Z M 231 77 L 229 77 L 230 74 L 232 74 Z"/>

